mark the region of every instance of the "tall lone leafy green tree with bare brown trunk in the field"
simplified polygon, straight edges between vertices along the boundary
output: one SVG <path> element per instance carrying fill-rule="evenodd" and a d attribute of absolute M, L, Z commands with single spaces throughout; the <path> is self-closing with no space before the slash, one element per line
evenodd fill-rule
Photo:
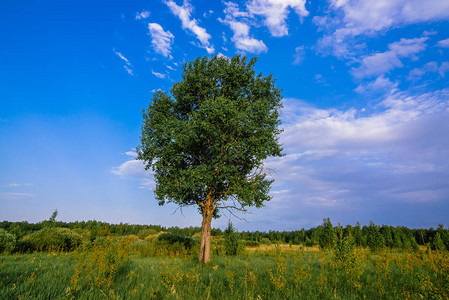
<path fill-rule="evenodd" d="M 255 74 L 255 63 L 240 55 L 199 57 L 184 64 L 171 95 L 156 92 L 143 111 L 137 159 L 154 171 L 159 205 L 198 206 L 204 263 L 212 218 L 269 201 L 273 180 L 263 161 L 282 155 L 281 93 L 271 75 Z"/>

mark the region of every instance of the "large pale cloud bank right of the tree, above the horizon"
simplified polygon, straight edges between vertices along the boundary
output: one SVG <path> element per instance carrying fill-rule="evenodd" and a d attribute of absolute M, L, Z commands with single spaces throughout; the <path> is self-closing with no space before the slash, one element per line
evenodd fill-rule
<path fill-rule="evenodd" d="M 449 196 L 449 90 L 393 91 L 370 112 L 285 99 L 281 119 L 286 156 L 267 167 L 276 171 L 273 191 L 282 195 L 272 196 L 284 202 L 286 219 L 351 211 L 369 221 L 376 207 Z"/>

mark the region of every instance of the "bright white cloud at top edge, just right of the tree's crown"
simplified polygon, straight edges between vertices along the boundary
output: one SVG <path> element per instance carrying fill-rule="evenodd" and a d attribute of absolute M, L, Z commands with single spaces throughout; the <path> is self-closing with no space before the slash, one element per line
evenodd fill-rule
<path fill-rule="evenodd" d="M 272 36 L 281 37 L 288 34 L 286 19 L 290 8 L 303 18 L 309 15 L 305 4 L 305 0 L 252 0 L 247 4 L 247 8 L 251 14 L 264 18 L 264 25 Z"/>

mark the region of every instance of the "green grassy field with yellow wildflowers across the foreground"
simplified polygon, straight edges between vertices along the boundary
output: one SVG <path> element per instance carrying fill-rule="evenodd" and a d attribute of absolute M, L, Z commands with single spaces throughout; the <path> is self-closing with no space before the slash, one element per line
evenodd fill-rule
<path fill-rule="evenodd" d="M 0 256 L 0 299 L 448 299 L 448 252 L 247 248 L 148 257 L 129 243 Z"/>

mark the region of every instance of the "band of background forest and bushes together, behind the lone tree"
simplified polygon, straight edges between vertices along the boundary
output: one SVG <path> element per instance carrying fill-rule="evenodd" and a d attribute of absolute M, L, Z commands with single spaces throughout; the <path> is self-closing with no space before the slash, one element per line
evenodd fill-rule
<path fill-rule="evenodd" d="M 109 224 L 100 221 L 56 221 L 57 211 L 45 221 L 39 223 L 0 222 L 1 252 L 32 252 L 37 250 L 61 249 L 74 250 L 83 242 L 93 242 L 100 237 L 133 236 L 145 240 L 157 236 L 159 239 L 171 236 L 173 241 L 192 240 L 191 245 L 199 240 L 201 227 L 164 227 L 160 225 Z M 340 226 L 340 225 L 339 225 Z M 257 247 L 270 244 L 290 244 L 325 247 L 326 239 L 332 239 L 337 226 L 329 218 L 314 228 L 295 231 L 242 231 L 235 230 L 236 238 L 245 246 Z M 410 229 L 404 226 L 378 226 L 373 222 L 361 226 L 342 227 L 343 235 L 350 236 L 355 246 L 390 249 L 415 249 L 427 246 L 433 250 L 449 249 L 449 230 L 439 224 L 436 229 Z M 165 233 L 163 237 L 159 237 Z M 219 228 L 211 230 L 213 237 L 222 237 L 224 231 Z M 328 237 L 326 237 L 328 236 Z"/>

